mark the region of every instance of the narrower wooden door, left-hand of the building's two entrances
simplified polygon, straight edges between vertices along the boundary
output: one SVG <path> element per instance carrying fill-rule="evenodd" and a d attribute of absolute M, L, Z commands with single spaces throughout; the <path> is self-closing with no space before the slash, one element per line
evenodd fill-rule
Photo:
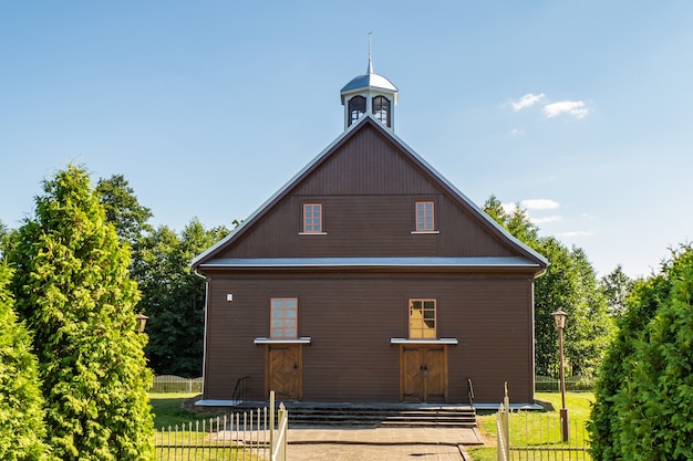
<path fill-rule="evenodd" d="M 267 346 L 265 363 L 266 395 L 273 390 L 277 398 L 300 400 L 302 395 L 302 348 L 300 344 Z"/>

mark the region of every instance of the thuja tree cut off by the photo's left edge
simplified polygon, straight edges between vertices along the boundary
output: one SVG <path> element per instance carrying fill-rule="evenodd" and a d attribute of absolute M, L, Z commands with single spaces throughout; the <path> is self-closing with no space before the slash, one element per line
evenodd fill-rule
<path fill-rule="evenodd" d="M 37 358 L 8 290 L 11 271 L 0 263 L 0 453 L 3 460 L 46 460 L 43 396 Z"/>

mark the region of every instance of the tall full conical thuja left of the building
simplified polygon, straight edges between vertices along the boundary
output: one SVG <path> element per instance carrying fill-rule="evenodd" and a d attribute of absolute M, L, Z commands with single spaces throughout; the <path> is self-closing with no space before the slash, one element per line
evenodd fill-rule
<path fill-rule="evenodd" d="M 48 440 L 62 460 L 151 459 L 152 375 L 130 252 L 82 167 L 59 171 L 43 190 L 9 260 L 17 312 L 33 332 Z"/>

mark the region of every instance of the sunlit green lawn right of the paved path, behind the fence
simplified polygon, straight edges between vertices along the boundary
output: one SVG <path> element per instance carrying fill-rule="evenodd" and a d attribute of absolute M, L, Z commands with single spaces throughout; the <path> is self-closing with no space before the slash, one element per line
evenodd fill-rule
<path fill-rule="evenodd" d="M 561 407 L 560 394 L 537 392 L 535 398 L 542 404 L 547 411 L 531 412 L 527 419 L 514 413 L 510 416 L 510 444 L 515 446 L 561 446 L 560 433 L 552 427 L 547 427 L 546 418 L 557 419 L 558 410 Z M 591 392 L 568 392 L 566 394 L 566 408 L 568 408 L 568 419 L 570 420 L 570 444 L 583 446 L 586 432 L 585 428 L 590 416 L 590 404 L 594 400 Z M 496 415 L 485 415 L 478 417 L 479 429 L 487 440 L 495 443 L 496 440 Z M 469 449 L 468 453 L 475 461 L 496 460 L 496 447 L 483 447 Z M 576 454 L 576 453 L 573 453 Z M 561 454 L 559 454 L 560 457 Z M 569 460 L 570 454 L 565 454 Z M 577 458 L 576 458 L 577 459 Z M 580 458 L 582 459 L 582 453 Z M 588 458 L 589 459 L 589 458 Z"/>

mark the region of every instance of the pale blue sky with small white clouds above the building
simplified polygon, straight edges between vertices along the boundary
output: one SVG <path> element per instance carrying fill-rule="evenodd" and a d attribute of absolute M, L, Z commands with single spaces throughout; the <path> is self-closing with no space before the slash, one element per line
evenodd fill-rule
<path fill-rule="evenodd" d="M 693 238 L 691 24 L 687 0 L 1 2 L 0 220 L 76 163 L 156 226 L 230 227 L 342 133 L 372 32 L 407 145 L 647 275 Z"/>

